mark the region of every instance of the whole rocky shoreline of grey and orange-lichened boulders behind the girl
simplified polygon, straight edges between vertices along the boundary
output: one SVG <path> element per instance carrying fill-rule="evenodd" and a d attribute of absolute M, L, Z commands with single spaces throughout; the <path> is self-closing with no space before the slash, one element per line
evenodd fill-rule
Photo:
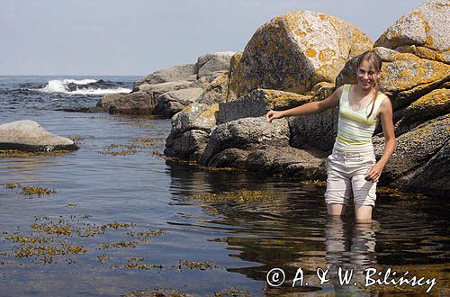
<path fill-rule="evenodd" d="M 446 1 L 428 0 L 375 42 L 354 24 L 326 14 L 280 15 L 258 28 L 243 52 L 209 54 L 194 65 L 159 70 L 131 94 L 107 95 L 99 106 L 112 113 L 173 115 L 166 156 L 324 180 L 338 107 L 273 124 L 264 115 L 322 100 L 338 86 L 355 83 L 357 56 L 374 49 L 383 58 L 380 87 L 392 100 L 398 141 L 380 184 L 446 195 L 449 14 Z M 381 127 L 374 148 L 381 157 Z"/>

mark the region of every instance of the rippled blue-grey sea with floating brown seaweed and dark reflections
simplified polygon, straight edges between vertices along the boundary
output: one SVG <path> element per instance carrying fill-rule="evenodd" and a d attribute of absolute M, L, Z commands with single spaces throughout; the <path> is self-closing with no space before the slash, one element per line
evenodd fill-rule
<path fill-rule="evenodd" d="M 0 152 L 0 296 L 450 294 L 448 200 L 380 188 L 372 224 L 330 219 L 323 183 L 167 158 L 170 119 L 76 112 L 139 78 L 0 76 L 0 124 L 79 147 Z"/>

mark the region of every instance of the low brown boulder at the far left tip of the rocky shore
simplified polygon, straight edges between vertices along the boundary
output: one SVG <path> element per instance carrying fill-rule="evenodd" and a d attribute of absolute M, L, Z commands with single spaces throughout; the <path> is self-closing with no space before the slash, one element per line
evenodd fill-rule
<path fill-rule="evenodd" d="M 130 94 L 107 94 L 97 103 L 110 113 L 152 114 L 157 106 L 157 98 L 147 92 Z"/>

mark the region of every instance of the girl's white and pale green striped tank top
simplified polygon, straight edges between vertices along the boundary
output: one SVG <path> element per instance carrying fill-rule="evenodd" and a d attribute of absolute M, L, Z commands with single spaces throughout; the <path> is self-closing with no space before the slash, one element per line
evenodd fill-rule
<path fill-rule="evenodd" d="M 349 104 L 348 92 L 351 85 L 344 85 L 339 100 L 338 136 L 336 137 L 334 149 L 342 152 L 364 153 L 374 151 L 372 135 L 374 134 L 378 109 L 385 98 L 385 94 L 379 92 L 374 103 L 359 111 L 354 111 Z"/>

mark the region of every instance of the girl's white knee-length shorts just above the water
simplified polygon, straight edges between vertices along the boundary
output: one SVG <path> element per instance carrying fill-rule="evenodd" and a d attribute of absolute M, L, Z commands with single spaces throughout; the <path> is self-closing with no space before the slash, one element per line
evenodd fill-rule
<path fill-rule="evenodd" d="M 376 183 L 365 180 L 365 174 L 375 164 L 374 152 L 345 153 L 333 149 L 328 163 L 327 204 L 347 205 L 353 193 L 355 204 L 375 205 Z"/>

